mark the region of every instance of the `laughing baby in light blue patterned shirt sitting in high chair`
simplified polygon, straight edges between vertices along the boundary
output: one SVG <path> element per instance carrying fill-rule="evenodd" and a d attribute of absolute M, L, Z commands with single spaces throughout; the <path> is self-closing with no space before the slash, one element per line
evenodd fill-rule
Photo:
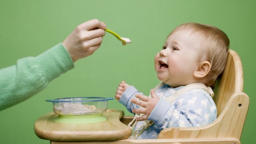
<path fill-rule="evenodd" d="M 193 88 L 172 102 L 166 98 L 192 83 L 214 88 L 224 70 L 228 48 L 227 35 L 214 26 L 186 23 L 176 27 L 155 56 L 155 70 L 163 85 L 151 90 L 151 97 L 124 81 L 116 90 L 116 99 L 128 111 L 143 114 L 136 118 L 139 122 L 135 126 L 135 138 L 157 138 L 164 128 L 198 127 L 213 122 L 217 116 L 216 105 L 206 90 Z M 142 131 L 145 120 L 154 123 Z"/>

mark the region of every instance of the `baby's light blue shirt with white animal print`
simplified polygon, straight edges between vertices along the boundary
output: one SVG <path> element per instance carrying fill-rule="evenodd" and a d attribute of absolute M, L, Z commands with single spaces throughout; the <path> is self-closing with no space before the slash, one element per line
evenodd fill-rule
<path fill-rule="evenodd" d="M 164 84 L 156 90 L 160 100 L 148 117 L 148 120 L 152 120 L 154 124 L 145 130 L 138 139 L 157 138 L 164 128 L 204 126 L 216 119 L 216 105 L 211 96 L 202 88 L 188 90 L 171 103 L 164 100 L 182 87 L 184 86 L 172 88 Z M 140 107 L 130 102 L 131 98 L 135 98 L 137 93 L 140 92 L 130 86 L 119 100 L 130 112 L 132 112 L 132 109 Z M 144 121 L 138 122 L 136 127 L 143 123 Z"/>

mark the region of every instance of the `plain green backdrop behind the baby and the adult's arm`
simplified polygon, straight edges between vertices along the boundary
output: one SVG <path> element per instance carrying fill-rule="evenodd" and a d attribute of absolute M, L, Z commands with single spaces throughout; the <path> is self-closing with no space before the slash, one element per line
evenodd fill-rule
<path fill-rule="evenodd" d="M 107 33 L 102 46 L 92 56 L 77 61 L 73 70 L 25 102 L 2 110 L 0 143 L 49 144 L 33 129 L 37 118 L 52 111 L 46 99 L 114 98 L 122 80 L 148 95 L 159 82 L 154 71 L 155 54 L 170 31 L 185 22 L 214 25 L 230 38 L 230 48 L 242 60 L 244 92 L 250 97 L 241 142 L 254 143 L 255 7 L 254 0 L 1 0 L 0 68 L 16 64 L 20 58 L 37 56 L 62 42 L 78 24 L 95 18 L 130 38 L 132 44 L 122 46 Z M 108 108 L 125 110 L 116 100 L 110 101 Z"/>

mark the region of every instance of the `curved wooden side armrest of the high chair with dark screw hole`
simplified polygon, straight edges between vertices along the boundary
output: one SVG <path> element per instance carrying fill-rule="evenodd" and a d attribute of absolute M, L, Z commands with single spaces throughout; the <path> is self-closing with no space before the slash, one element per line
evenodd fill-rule
<path fill-rule="evenodd" d="M 244 92 L 234 93 L 222 113 L 212 123 L 202 127 L 165 128 L 158 135 L 162 138 L 237 138 L 240 139 L 249 97 Z"/>

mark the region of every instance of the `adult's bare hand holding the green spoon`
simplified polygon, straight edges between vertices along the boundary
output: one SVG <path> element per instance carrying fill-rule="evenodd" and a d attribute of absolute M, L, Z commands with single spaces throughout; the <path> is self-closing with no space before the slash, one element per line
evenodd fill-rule
<path fill-rule="evenodd" d="M 62 42 L 73 62 L 92 55 L 102 42 L 107 28 L 104 22 L 89 20 L 78 25 Z"/>

